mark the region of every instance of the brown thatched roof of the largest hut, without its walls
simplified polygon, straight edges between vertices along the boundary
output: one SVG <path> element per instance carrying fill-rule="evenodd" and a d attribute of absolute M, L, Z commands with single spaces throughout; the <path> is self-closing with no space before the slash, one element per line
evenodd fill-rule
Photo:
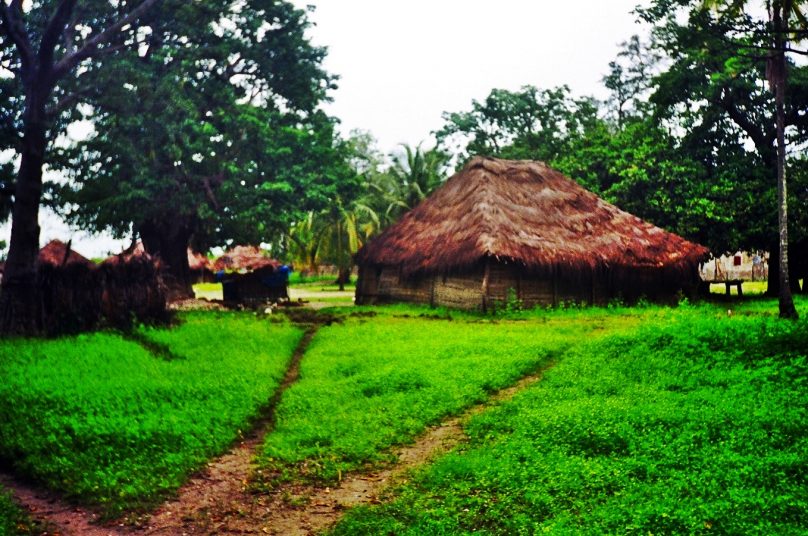
<path fill-rule="evenodd" d="M 357 260 L 405 274 L 460 270 L 489 256 L 537 270 L 684 269 L 706 253 L 542 162 L 476 157 Z"/>

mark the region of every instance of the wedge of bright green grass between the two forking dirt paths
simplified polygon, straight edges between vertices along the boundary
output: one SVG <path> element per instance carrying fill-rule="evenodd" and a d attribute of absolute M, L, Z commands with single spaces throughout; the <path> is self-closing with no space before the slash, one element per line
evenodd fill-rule
<path fill-rule="evenodd" d="M 333 482 L 346 471 L 390 461 L 392 445 L 513 384 L 609 321 L 545 316 L 537 329 L 463 313 L 457 315 L 472 321 L 401 318 L 391 310 L 431 314 L 397 306 L 318 332 L 259 456 L 270 483 Z"/>

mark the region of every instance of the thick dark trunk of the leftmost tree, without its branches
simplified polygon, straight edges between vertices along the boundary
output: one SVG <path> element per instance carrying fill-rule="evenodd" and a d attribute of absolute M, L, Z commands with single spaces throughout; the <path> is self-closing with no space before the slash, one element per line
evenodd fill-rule
<path fill-rule="evenodd" d="M 35 335 L 42 328 L 39 321 L 36 259 L 39 253 L 42 166 L 47 148 L 46 95 L 44 88 L 34 88 L 26 95 L 25 130 L 15 183 L 11 242 L 0 288 L 0 333 L 4 335 Z"/>

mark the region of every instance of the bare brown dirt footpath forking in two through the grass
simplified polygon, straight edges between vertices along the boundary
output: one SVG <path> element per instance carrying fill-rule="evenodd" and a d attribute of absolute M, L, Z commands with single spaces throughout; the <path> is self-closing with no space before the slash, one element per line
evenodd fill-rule
<path fill-rule="evenodd" d="M 256 449 L 272 430 L 275 408 L 283 392 L 297 380 L 300 360 L 316 331 L 316 326 L 307 328 L 283 383 L 267 407 L 266 417 L 253 431 L 230 452 L 211 461 L 201 474 L 192 477 L 175 500 L 164 503 L 151 517 L 135 525 L 120 521 L 99 525 L 95 513 L 67 504 L 51 492 L 8 476 L 1 476 L 0 484 L 12 492 L 32 517 L 44 522 L 48 534 L 54 535 L 316 534 L 338 521 L 347 508 L 380 502 L 384 490 L 405 479 L 408 471 L 462 442 L 466 437 L 462 425 L 469 418 L 509 400 L 541 379 L 543 372 L 528 375 L 496 392 L 486 402 L 429 428 L 412 445 L 399 448 L 397 463 L 386 469 L 348 474 L 334 488 L 292 483 L 269 494 L 252 493 L 249 479 L 256 469 L 253 464 Z"/>

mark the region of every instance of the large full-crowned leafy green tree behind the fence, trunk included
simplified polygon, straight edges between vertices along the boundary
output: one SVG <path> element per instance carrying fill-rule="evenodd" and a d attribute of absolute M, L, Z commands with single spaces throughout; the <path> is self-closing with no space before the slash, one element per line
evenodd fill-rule
<path fill-rule="evenodd" d="M 350 174 L 317 110 L 332 83 L 305 12 L 253 0 L 151 15 L 139 55 L 97 73 L 96 134 L 63 152 L 73 180 L 56 198 L 82 227 L 139 234 L 191 294 L 192 241 L 277 240 Z"/>

